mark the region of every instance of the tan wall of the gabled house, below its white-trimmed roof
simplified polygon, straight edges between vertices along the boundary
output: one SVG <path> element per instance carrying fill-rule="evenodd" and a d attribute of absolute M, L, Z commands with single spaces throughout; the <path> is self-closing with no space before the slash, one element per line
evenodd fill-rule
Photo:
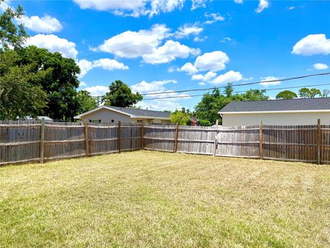
<path fill-rule="evenodd" d="M 81 118 L 83 122 L 89 122 L 89 120 L 101 120 L 102 123 L 111 123 L 111 120 L 114 120 L 115 123 L 118 121 L 122 123 L 136 123 L 137 120 L 143 119 L 144 123 L 170 123 L 169 120 L 157 120 L 152 118 L 131 118 L 126 114 L 120 114 L 113 110 L 100 109 L 96 112 L 86 114 Z"/>

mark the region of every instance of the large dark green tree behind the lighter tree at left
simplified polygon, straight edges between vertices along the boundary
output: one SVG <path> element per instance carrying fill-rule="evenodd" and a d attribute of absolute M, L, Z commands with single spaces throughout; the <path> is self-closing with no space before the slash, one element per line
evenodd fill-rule
<path fill-rule="evenodd" d="M 63 57 L 59 52 L 29 46 L 18 51 L 21 60 L 18 65 L 31 65 L 34 72 L 47 72 L 45 79 L 31 79 L 47 94 L 47 106 L 43 112 L 54 120 L 73 121 L 79 103 L 76 89 L 79 86 L 80 68 L 74 59 Z"/>

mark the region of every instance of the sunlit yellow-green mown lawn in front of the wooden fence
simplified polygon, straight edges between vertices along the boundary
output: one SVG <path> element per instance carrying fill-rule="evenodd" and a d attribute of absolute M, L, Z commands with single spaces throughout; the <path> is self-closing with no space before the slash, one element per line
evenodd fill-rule
<path fill-rule="evenodd" d="M 0 247 L 330 247 L 330 166 L 138 151 L 0 167 Z"/>

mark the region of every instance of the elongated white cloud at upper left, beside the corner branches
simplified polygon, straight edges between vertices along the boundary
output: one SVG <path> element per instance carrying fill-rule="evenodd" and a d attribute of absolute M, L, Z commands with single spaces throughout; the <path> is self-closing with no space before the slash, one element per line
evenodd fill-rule
<path fill-rule="evenodd" d="M 21 17 L 17 20 L 19 23 L 23 23 L 25 28 L 32 30 L 34 32 L 42 32 L 50 34 L 52 32 L 59 32 L 63 29 L 62 24 L 55 17 L 50 17 L 45 15 L 44 17 Z"/>

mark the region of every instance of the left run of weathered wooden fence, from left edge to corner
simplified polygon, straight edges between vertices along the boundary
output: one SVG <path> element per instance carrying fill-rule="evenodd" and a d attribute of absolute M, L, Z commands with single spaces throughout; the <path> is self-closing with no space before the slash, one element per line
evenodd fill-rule
<path fill-rule="evenodd" d="M 141 132 L 133 123 L 0 121 L 0 165 L 141 149 Z"/>

